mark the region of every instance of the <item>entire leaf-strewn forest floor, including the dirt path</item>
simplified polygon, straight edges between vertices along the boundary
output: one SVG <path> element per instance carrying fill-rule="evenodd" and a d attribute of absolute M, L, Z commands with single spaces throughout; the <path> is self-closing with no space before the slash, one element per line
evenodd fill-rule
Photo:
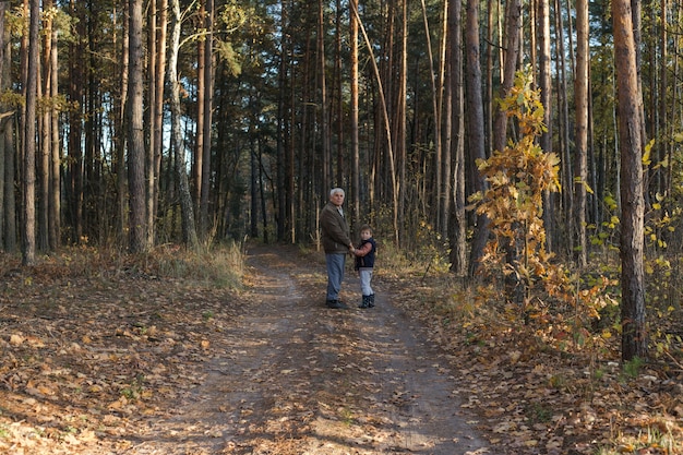
<path fill-rule="evenodd" d="M 322 253 L 243 252 L 4 256 L 0 453 L 683 453 L 675 343 L 559 349 L 386 252 L 378 311 L 350 268 L 332 311 Z"/>

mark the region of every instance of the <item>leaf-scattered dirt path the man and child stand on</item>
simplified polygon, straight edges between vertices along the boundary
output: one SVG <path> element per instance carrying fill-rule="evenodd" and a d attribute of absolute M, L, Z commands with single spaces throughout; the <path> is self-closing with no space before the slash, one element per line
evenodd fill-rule
<path fill-rule="evenodd" d="M 324 271 L 297 254 L 250 252 L 248 303 L 217 342 L 227 355 L 127 453 L 493 454 L 462 415 L 443 354 L 381 285 L 373 310 L 326 309 Z"/>

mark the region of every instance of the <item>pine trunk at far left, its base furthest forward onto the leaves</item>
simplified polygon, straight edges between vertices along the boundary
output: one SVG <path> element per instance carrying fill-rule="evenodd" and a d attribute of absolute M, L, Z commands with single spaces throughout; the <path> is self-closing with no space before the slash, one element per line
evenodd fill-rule
<path fill-rule="evenodd" d="M 22 264 L 36 262 L 36 108 L 38 94 L 40 0 L 31 0 L 28 25 L 28 77 L 26 80 L 25 125 L 23 131 L 24 163 L 22 180 Z"/>

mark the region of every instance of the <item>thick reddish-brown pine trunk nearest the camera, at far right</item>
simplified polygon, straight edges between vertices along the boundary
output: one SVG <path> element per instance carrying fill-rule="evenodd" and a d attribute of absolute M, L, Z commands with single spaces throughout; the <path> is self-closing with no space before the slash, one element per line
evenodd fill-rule
<path fill-rule="evenodd" d="M 645 280 L 643 267 L 645 201 L 640 99 L 636 49 L 628 0 L 612 1 L 614 61 L 616 62 L 619 142 L 621 149 L 621 286 L 622 359 L 647 355 Z"/>

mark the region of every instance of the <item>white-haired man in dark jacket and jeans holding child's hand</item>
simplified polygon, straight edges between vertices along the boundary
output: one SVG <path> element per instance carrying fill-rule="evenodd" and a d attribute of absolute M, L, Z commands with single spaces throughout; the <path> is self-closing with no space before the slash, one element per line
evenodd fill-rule
<path fill-rule="evenodd" d="M 344 190 L 333 188 L 329 191 L 329 201 L 320 214 L 320 225 L 323 231 L 323 249 L 327 264 L 327 300 L 328 308 L 348 308 L 339 300 L 339 289 L 344 280 L 346 255 L 354 252 L 354 242 L 349 237 L 349 227 L 344 217 Z"/>

